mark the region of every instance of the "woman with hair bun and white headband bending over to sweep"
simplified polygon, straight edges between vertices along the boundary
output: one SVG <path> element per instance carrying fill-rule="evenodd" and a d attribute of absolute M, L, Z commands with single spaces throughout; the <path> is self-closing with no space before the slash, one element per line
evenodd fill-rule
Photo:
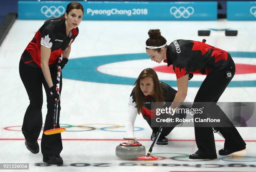
<path fill-rule="evenodd" d="M 161 36 L 158 29 L 148 31 L 146 52 L 151 60 L 167 65 L 173 65 L 177 77 L 178 92 L 171 108 L 181 105 L 187 95 L 189 74 L 197 73 L 207 75 L 202 82 L 194 102 L 215 102 L 211 111 L 218 116 L 225 113 L 216 105 L 218 99 L 232 80 L 236 67 L 230 54 L 224 50 L 205 44 L 205 41 L 174 40 L 166 44 L 166 39 Z M 196 104 L 194 103 L 194 107 Z M 174 115 L 174 114 L 169 114 Z M 195 116 L 194 116 L 195 117 Z M 231 122 L 230 122 L 231 123 Z M 246 143 L 233 124 L 231 127 L 218 127 L 225 137 L 224 148 L 219 150 L 219 155 L 228 155 L 246 148 Z M 190 159 L 215 159 L 217 158 L 212 127 L 197 127 L 195 124 L 195 139 L 198 150 L 189 156 Z"/>

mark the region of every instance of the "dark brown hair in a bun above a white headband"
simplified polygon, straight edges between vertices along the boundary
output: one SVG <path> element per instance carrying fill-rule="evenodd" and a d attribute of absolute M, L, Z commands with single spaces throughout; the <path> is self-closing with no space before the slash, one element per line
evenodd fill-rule
<path fill-rule="evenodd" d="M 167 42 L 166 39 L 161 35 L 159 29 L 148 30 L 148 36 L 149 38 L 146 40 L 146 46 L 160 47 L 161 45 L 164 45 Z M 146 47 L 146 49 L 149 48 Z M 161 48 L 157 48 L 154 50 L 160 52 Z"/>

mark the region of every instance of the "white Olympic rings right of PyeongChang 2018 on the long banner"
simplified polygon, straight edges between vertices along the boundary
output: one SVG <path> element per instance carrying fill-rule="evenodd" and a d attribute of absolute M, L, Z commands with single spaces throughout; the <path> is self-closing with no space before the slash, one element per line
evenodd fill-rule
<path fill-rule="evenodd" d="M 170 13 L 172 15 L 174 15 L 175 18 L 188 18 L 190 17 L 192 14 L 194 14 L 194 8 L 193 7 L 171 7 L 170 8 Z"/>

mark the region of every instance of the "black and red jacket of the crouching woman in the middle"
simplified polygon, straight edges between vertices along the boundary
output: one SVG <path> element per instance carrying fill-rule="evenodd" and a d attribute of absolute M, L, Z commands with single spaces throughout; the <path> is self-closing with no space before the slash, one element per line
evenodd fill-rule
<path fill-rule="evenodd" d="M 172 87 L 170 87 L 168 84 L 164 82 L 160 82 L 161 89 L 164 94 L 164 101 L 165 102 L 173 102 L 175 95 L 177 94 L 177 91 L 174 90 Z M 143 93 L 142 93 L 143 94 Z M 151 103 L 156 102 L 156 99 L 151 96 L 144 96 L 143 101 L 143 107 L 142 107 L 142 115 L 146 115 L 149 118 L 155 118 L 155 112 L 154 109 L 152 109 Z M 130 98 L 129 98 L 129 107 L 137 107 L 136 104 L 136 93 L 135 93 L 135 87 L 133 88 Z"/>

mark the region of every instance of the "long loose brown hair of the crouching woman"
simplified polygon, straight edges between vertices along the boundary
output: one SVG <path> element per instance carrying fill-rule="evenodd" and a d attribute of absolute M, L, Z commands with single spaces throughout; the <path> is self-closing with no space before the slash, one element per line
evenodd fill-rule
<path fill-rule="evenodd" d="M 137 112 L 140 114 L 142 112 L 144 95 L 141 91 L 140 80 L 145 77 L 151 77 L 154 82 L 154 97 L 156 98 L 156 102 L 164 102 L 164 94 L 158 79 L 158 76 L 154 69 L 146 68 L 142 70 L 141 74 L 138 76 L 138 79 L 135 82 L 135 96 L 136 96 L 136 104 L 137 104 Z"/>

